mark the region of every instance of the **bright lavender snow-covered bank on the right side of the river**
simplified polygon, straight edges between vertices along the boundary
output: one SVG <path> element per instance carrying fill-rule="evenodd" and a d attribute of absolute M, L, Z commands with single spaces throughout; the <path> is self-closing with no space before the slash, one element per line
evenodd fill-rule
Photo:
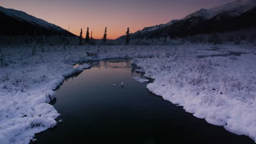
<path fill-rule="evenodd" d="M 133 63 L 155 79 L 147 85 L 149 91 L 256 142 L 256 55 L 252 51 L 205 58 L 176 53 L 168 58 L 136 58 Z"/>

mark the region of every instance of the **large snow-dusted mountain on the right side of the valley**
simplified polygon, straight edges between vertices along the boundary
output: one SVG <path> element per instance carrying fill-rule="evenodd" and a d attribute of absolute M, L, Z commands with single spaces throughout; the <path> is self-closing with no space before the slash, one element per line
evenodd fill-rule
<path fill-rule="evenodd" d="M 186 37 L 188 35 L 237 31 L 256 26 L 256 0 L 240 0 L 211 9 L 200 9 L 180 20 L 146 27 L 141 37 Z M 122 36 L 121 38 L 123 38 Z M 137 38 L 138 32 L 131 34 Z"/>

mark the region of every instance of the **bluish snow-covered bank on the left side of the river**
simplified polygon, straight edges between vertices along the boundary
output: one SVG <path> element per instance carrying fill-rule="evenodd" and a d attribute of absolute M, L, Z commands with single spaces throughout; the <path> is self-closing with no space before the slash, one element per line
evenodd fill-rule
<path fill-rule="evenodd" d="M 144 50 L 148 47 L 141 47 Z M 150 47 L 149 47 L 150 48 Z M 88 57 L 86 51 L 100 51 Z M 151 47 L 150 49 L 155 49 Z M 34 52 L 32 52 L 34 51 Z M 65 77 L 91 67 L 76 64 L 105 58 L 147 57 L 127 46 L 1 46 L 0 143 L 29 143 L 34 134 L 53 128 L 59 113 L 48 103 Z M 35 55 L 33 54 L 35 53 Z M 76 64 L 76 65 L 74 65 Z"/>

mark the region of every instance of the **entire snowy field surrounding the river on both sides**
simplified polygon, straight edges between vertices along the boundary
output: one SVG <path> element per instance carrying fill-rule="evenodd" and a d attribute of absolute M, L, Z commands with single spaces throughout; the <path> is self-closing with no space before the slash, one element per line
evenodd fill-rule
<path fill-rule="evenodd" d="M 92 51 L 97 56 L 88 57 Z M 53 89 L 90 67 L 75 64 L 106 58 L 133 58 L 137 71 L 155 79 L 149 91 L 256 142 L 256 46 L 185 44 L 2 46 L 0 143 L 29 143 L 34 134 L 53 128 L 60 115 L 48 104 L 56 98 Z"/>

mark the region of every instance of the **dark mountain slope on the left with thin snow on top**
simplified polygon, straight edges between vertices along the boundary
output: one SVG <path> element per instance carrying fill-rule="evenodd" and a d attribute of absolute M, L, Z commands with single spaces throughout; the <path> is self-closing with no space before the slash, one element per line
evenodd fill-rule
<path fill-rule="evenodd" d="M 0 7 L 0 18 L 0 35 L 74 35 L 59 26 L 19 10 Z"/>

